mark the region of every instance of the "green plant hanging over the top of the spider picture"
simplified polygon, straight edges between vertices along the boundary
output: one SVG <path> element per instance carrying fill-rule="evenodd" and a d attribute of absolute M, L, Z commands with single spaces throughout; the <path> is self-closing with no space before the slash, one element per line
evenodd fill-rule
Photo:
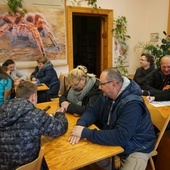
<path fill-rule="evenodd" d="M 17 14 L 20 12 L 22 16 L 27 12 L 26 9 L 23 9 L 22 0 L 7 0 L 7 5 L 10 8 L 9 14 Z"/>

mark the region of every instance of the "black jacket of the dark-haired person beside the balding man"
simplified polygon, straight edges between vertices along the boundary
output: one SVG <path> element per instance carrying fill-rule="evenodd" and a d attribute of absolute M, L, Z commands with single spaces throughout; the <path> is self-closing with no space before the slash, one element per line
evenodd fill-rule
<path fill-rule="evenodd" d="M 147 78 L 150 78 L 151 73 L 155 70 L 154 64 L 152 64 L 147 70 L 140 67 L 136 70 L 133 80 L 143 89 Z"/>

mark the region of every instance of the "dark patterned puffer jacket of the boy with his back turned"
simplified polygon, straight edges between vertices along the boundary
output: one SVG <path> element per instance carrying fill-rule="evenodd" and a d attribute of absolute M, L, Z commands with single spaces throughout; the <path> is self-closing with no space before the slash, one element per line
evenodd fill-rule
<path fill-rule="evenodd" d="M 63 113 L 55 118 L 28 100 L 11 99 L 0 107 L 0 169 L 14 170 L 37 158 L 41 135 L 57 137 L 67 130 Z"/>

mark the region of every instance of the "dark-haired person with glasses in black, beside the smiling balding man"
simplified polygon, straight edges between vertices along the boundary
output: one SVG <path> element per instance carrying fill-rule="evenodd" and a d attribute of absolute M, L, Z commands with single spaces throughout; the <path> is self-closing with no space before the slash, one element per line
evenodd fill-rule
<path fill-rule="evenodd" d="M 154 57 L 151 54 L 142 54 L 140 58 L 140 65 L 134 75 L 133 80 L 143 89 L 143 85 L 146 83 L 147 77 L 150 77 L 151 73 L 155 70 Z"/>

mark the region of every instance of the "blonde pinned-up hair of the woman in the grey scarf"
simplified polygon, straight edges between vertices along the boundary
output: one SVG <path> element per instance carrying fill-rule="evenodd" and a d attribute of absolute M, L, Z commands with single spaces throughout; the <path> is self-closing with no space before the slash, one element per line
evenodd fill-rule
<path fill-rule="evenodd" d="M 67 82 L 69 85 L 73 85 L 81 80 L 82 77 L 95 77 L 94 74 L 87 73 L 87 67 L 78 65 L 75 69 L 71 70 L 67 77 Z"/>

